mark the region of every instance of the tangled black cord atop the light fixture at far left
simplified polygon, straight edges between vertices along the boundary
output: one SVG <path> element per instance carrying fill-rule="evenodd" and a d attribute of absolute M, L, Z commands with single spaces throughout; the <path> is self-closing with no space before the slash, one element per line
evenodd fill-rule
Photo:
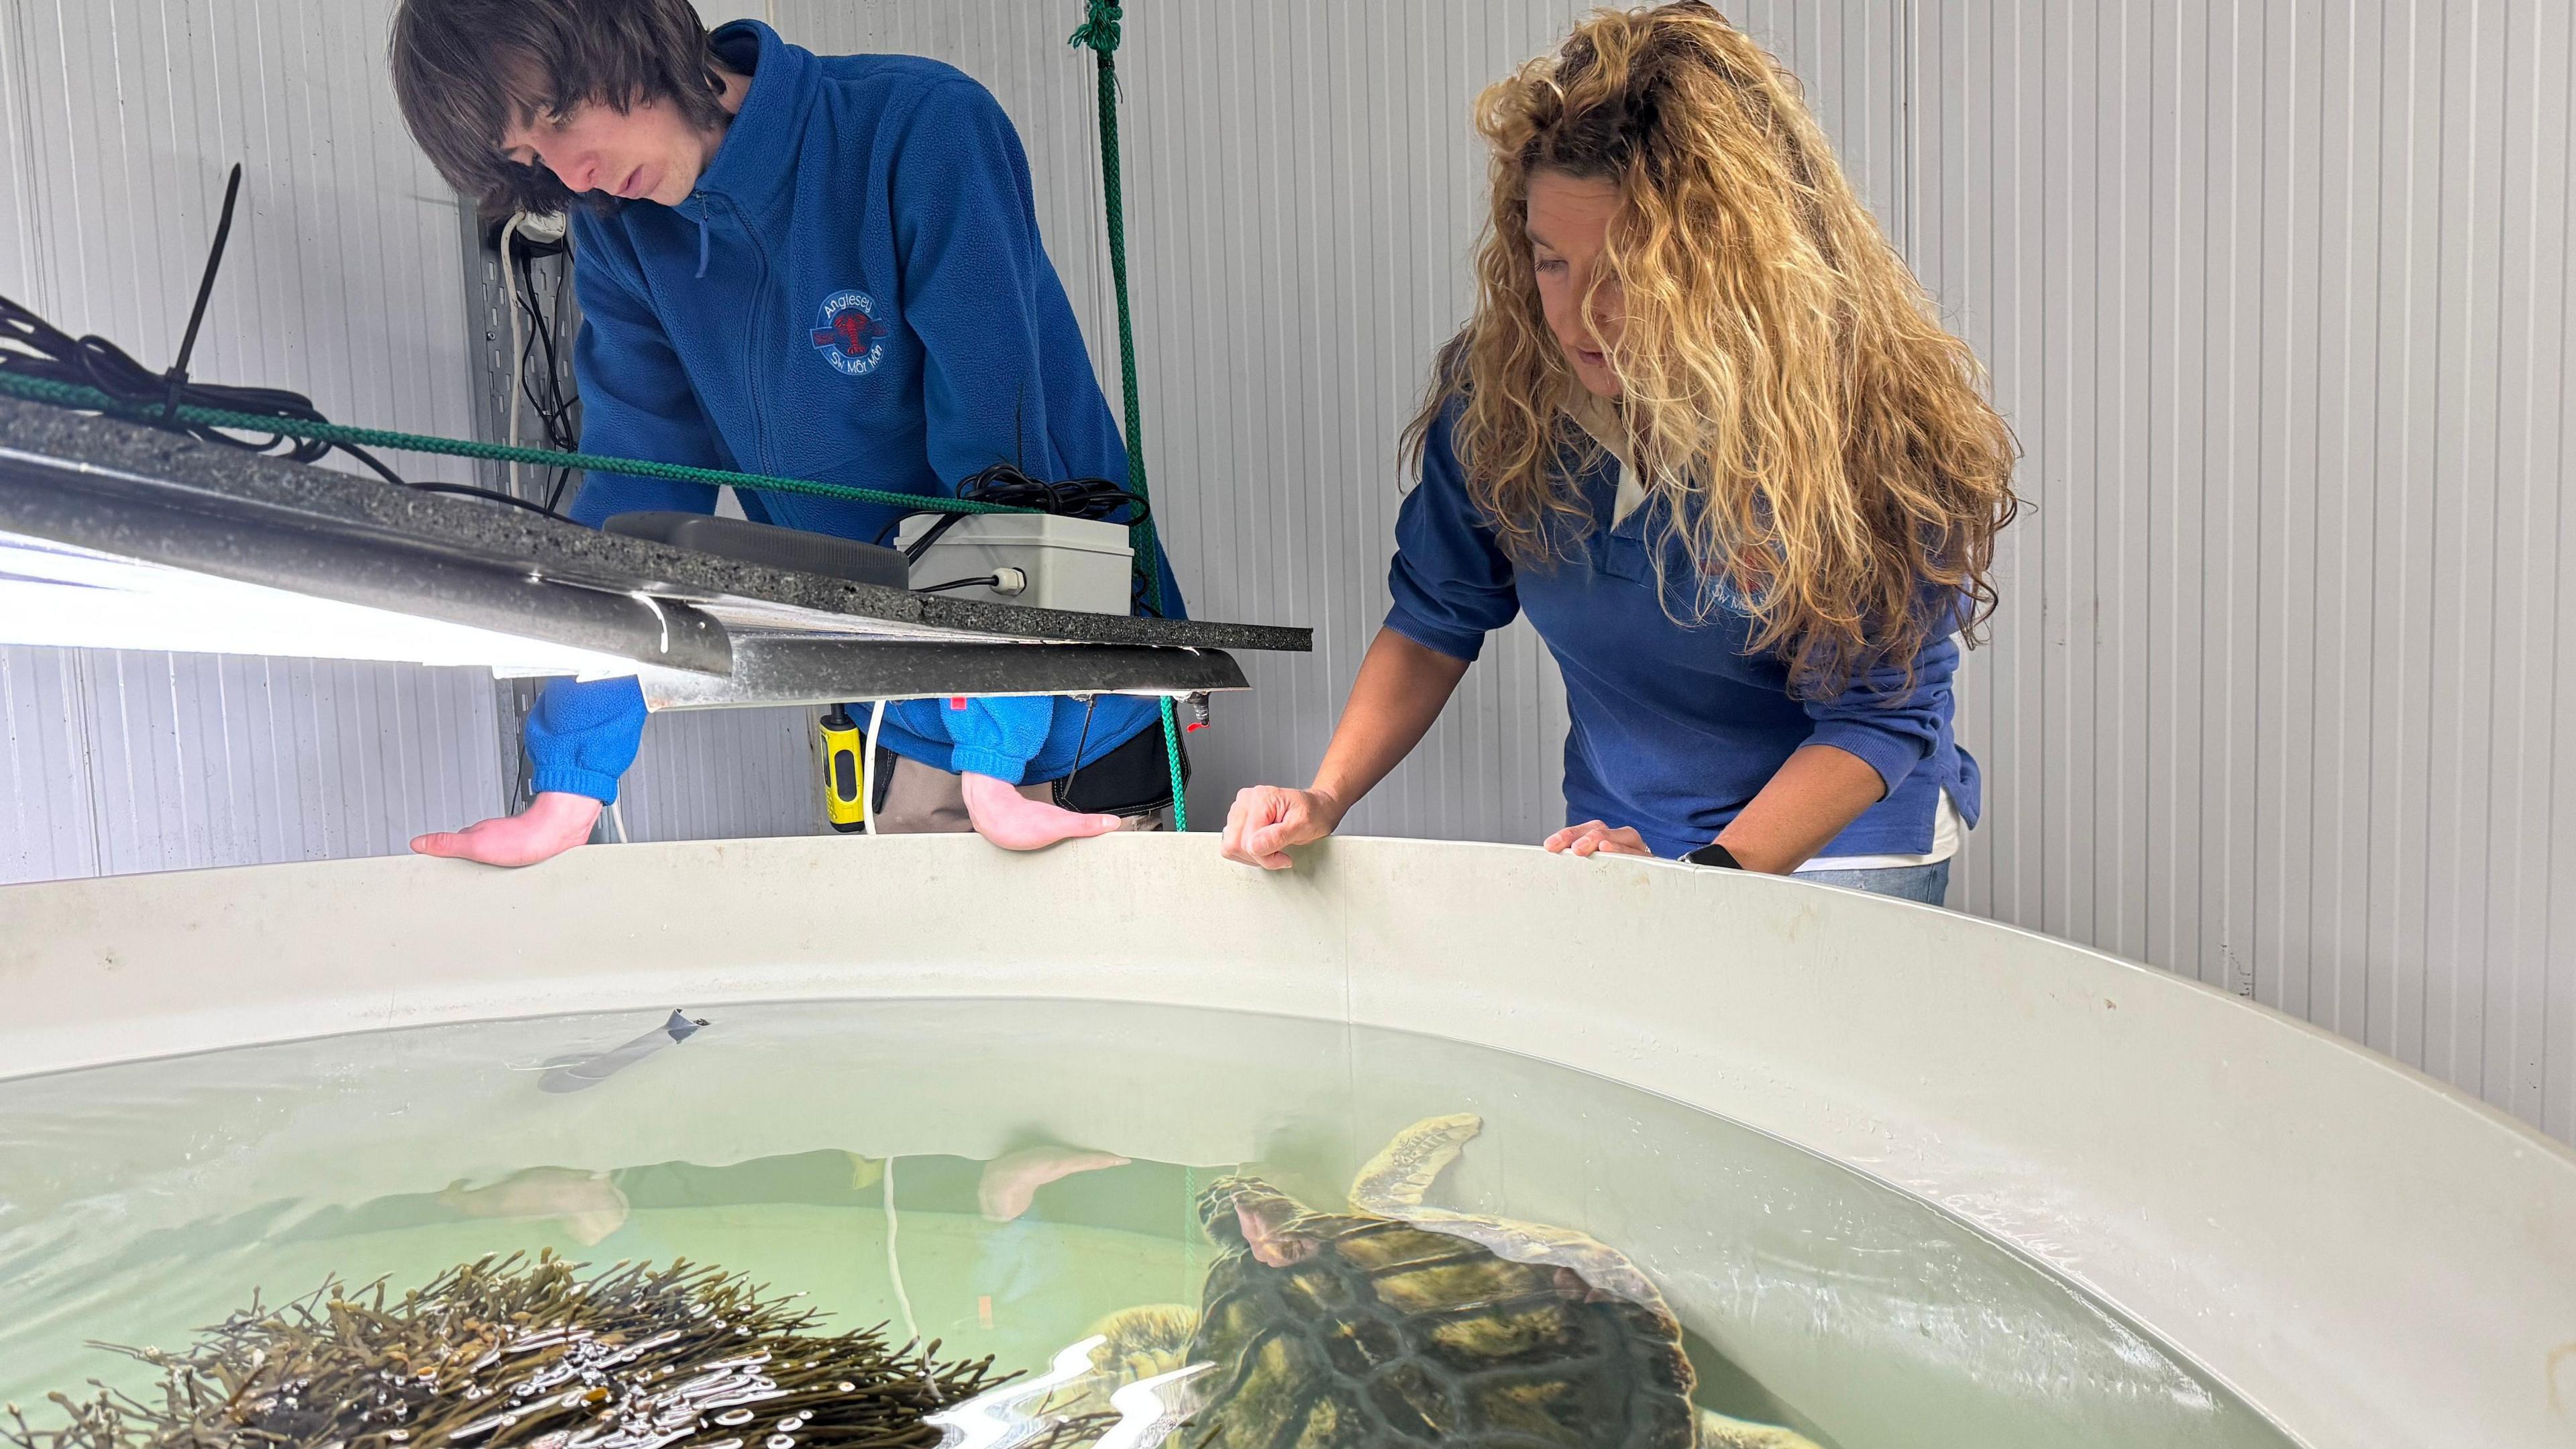
<path fill-rule="evenodd" d="M 196 356 L 198 327 L 204 325 L 206 304 L 214 297 L 216 271 L 224 266 L 224 242 L 232 237 L 232 214 L 240 193 L 242 168 L 234 165 L 232 178 L 224 186 L 224 211 L 214 227 L 214 245 L 206 253 L 206 273 L 196 286 L 196 307 L 188 312 L 188 333 L 180 340 L 178 361 L 170 364 L 170 371 L 147 369 L 106 338 L 72 338 L 36 315 L 33 307 L 10 297 L 0 297 L 0 371 L 103 392 L 111 402 L 108 413 L 116 418 L 183 433 L 204 443 L 219 443 L 247 454 L 270 454 L 299 464 L 314 464 L 327 459 L 332 451 L 340 451 L 397 487 L 459 492 L 466 498 L 487 498 L 554 516 L 551 508 L 510 498 L 507 492 L 495 492 L 489 487 L 471 487 L 464 482 L 412 482 L 389 469 L 384 459 L 355 443 L 325 443 L 255 431 L 245 438 L 240 436 L 245 428 L 224 431 L 180 418 L 180 407 L 204 407 L 211 413 L 250 413 L 291 423 L 330 423 L 330 418 L 314 407 L 312 397 L 304 397 L 301 392 L 289 392 L 283 387 L 227 387 L 193 382 L 188 376 L 188 358 Z"/>

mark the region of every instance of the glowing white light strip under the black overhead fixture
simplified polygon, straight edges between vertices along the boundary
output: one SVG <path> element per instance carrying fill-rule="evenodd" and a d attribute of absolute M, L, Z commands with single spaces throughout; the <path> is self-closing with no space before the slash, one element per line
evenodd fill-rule
<path fill-rule="evenodd" d="M 0 645 L 477 665 L 608 678 L 634 660 L 0 534 Z"/>

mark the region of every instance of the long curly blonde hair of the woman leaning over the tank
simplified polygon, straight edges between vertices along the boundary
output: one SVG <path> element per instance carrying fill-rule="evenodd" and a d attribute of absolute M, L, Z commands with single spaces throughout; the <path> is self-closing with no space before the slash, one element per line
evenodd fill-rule
<path fill-rule="evenodd" d="M 1700 3 L 1600 10 L 1476 101 L 1492 214 L 1476 315 L 1406 428 L 1419 462 L 1458 402 L 1453 449 L 1502 547 L 1543 565 L 1589 531 L 1574 474 L 1600 459 L 1548 330 L 1528 235 L 1530 175 L 1618 186 L 1584 317 L 1620 382 L 1649 495 L 1710 598 L 1801 694 L 1994 611 L 2014 441 L 1984 369 L 1852 193 L 1780 62 Z M 1620 335 L 1595 304 L 1618 286 Z M 1659 549 L 1662 554 L 1662 549 Z"/>

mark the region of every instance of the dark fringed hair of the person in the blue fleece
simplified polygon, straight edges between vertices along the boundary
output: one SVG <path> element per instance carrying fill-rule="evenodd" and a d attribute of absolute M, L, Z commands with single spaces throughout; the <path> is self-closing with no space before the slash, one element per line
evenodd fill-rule
<path fill-rule="evenodd" d="M 572 191 L 500 139 L 541 116 L 667 101 L 698 126 L 724 121 L 724 83 L 688 0 L 402 0 L 394 98 L 448 186 L 487 214 L 551 214 Z"/>

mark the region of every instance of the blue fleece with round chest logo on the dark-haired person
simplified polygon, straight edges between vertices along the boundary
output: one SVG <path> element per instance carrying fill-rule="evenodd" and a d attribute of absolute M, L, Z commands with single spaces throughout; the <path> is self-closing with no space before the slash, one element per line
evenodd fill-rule
<path fill-rule="evenodd" d="M 1038 240 L 1028 157 L 1002 106 L 914 57 L 817 57 L 757 21 L 716 31 L 752 75 L 688 204 L 572 217 L 582 449 L 889 492 L 953 495 L 1012 462 L 1126 480 L 1082 327 Z M 577 523 L 716 490 L 590 474 Z M 750 492 L 762 523 L 876 539 L 894 508 Z M 1162 575 L 1164 614 L 1180 588 Z M 886 706 L 884 743 L 943 771 L 1061 779 L 1146 724 L 1149 699 Z M 616 799 L 644 735 L 631 678 L 554 681 L 528 717 L 536 789 Z"/>

